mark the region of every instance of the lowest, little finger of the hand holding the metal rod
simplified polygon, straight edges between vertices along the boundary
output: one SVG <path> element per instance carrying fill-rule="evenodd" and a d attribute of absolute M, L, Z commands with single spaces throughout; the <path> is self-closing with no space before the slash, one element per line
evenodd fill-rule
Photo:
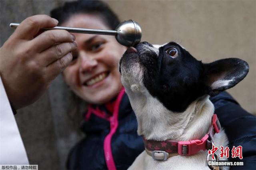
<path fill-rule="evenodd" d="M 56 60 L 55 62 L 47 66 L 46 75 L 47 75 L 48 81 L 51 81 L 54 78 L 56 78 L 58 74 L 60 74 L 60 72 L 62 72 L 68 66 L 68 64 L 70 64 L 71 61 L 72 61 L 72 54 L 71 52 L 69 52 L 62 58 Z"/>

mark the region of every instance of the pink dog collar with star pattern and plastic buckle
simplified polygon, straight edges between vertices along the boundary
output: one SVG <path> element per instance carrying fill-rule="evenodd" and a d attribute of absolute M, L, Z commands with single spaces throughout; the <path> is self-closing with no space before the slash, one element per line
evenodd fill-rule
<path fill-rule="evenodd" d="M 176 155 L 192 155 L 196 154 L 200 150 L 210 149 L 212 147 L 213 136 L 220 132 L 220 122 L 217 115 L 212 116 L 212 125 L 210 126 L 208 133 L 201 140 L 189 140 L 189 141 L 156 141 L 156 140 L 144 140 L 146 152 L 154 158 L 154 160 L 166 160 L 171 156 Z"/>

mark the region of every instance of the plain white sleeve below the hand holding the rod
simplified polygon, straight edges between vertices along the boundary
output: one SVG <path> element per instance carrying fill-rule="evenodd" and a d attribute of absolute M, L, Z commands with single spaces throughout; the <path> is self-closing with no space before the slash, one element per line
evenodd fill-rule
<path fill-rule="evenodd" d="M 12 108 L 0 78 L 0 164 L 29 164 Z"/>

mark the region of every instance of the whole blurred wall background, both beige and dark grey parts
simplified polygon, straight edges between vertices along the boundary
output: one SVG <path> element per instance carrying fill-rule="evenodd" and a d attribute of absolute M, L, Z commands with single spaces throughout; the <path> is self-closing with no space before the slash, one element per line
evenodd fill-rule
<path fill-rule="evenodd" d="M 203 62 L 237 57 L 250 65 L 248 76 L 228 90 L 243 108 L 256 114 L 256 1 L 106 1 L 120 20 L 133 19 L 142 40 L 154 44 L 176 41 Z M 21 22 L 49 14 L 60 0 L 1 0 L 0 46 Z M 30 164 L 40 169 L 65 169 L 68 151 L 83 137 L 74 95 L 58 76 L 36 103 L 15 115 Z"/>

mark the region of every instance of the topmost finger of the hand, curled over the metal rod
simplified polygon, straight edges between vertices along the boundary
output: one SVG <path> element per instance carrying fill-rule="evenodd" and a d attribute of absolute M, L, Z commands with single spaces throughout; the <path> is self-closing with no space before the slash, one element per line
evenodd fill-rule
<path fill-rule="evenodd" d="M 13 38 L 32 40 L 42 28 L 57 26 L 58 21 L 47 15 L 34 15 L 23 20 L 13 33 Z"/>

